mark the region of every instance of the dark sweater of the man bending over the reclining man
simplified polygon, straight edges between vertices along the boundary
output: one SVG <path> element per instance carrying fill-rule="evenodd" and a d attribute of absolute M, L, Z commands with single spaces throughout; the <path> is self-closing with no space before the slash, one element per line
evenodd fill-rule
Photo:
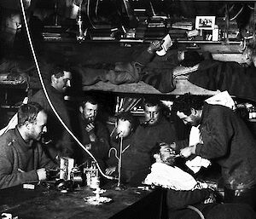
<path fill-rule="evenodd" d="M 212 159 L 222 169 L 224 184 L 231 189 L 256 184 L 256 141 L 244 121 L 228 107 L 205 104 L 201 118 L 203 144 L 196 155 Z M 181 148 L 182 142 L 177 142 Z"/>

